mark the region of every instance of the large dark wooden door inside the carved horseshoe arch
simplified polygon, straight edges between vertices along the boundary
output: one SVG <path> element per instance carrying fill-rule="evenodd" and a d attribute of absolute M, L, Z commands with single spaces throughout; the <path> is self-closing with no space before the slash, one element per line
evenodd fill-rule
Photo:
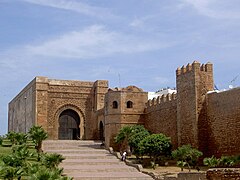
<path fill-rule="evenodd" d="M 71 109 L 64 110 L 59 116 L 58 139 L 76 140 L 80 137 L 80 117 Z"/>

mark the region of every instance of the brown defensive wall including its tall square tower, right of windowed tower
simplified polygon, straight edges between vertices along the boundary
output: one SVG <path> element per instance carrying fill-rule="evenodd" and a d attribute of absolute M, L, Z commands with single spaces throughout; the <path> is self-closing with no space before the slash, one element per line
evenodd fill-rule
<path fill-rule="evenodd" d="M 240 154 L 240 88 L 213 91 L 213 65 L 176 70 L 177 94 L 149 100 L 145 127 L 171 137 L 173 147 L 191 144 L 205 156 Z"/>

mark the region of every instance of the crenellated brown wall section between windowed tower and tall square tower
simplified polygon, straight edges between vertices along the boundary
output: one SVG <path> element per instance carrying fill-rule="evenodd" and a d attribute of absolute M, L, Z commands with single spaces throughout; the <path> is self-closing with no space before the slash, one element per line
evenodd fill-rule
<path fill-rule="evenodd" d="M 159 96 L 149 100 L 145 109 L 145 127 L 153 133 L 171 137 L 173 148 L 177 148 L 177 100 L 176 94 Z"/>

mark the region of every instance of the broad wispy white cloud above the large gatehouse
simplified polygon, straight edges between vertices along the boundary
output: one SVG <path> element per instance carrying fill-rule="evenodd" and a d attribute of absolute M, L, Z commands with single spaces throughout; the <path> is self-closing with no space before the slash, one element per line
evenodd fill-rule
<path fill-rule="evenodd" d="M 161 39 L 146 39 L 107 30 L 104 26 L 90 26 L 81 31 L 68 32 L 38 45 L 28 45 L 24 51 L 34 56 L 91 59 L 117 53 L 131 54 L 154 51 L 174 43 Z"/>

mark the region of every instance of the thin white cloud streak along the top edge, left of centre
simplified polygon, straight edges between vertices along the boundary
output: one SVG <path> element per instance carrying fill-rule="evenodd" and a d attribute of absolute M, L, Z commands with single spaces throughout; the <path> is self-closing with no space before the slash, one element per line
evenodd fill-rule
<path fill-rule="evenodd" d="M 57 9 L 74 11 L 77 13 L 97 18 L 113 17 L 113 15 L 106 8 L 90 6 L 86 3 L 79 2 L 76 0 L 23 0 L 23 1 L 41 6 L 48 6 Z"/>

